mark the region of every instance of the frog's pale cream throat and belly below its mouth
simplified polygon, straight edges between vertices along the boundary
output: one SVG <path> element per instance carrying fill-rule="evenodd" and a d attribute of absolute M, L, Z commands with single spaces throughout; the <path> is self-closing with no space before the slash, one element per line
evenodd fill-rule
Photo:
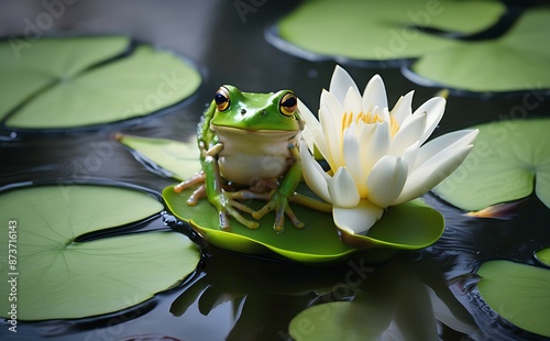
<path fill-rule="evenodd" d="M 299 130 L 243 130 L 211 124 L 223 150 L 218 155 L 221 175 L 235 184 L 283 176 L 293 164 L 288 144 L 298 144 Z"/>

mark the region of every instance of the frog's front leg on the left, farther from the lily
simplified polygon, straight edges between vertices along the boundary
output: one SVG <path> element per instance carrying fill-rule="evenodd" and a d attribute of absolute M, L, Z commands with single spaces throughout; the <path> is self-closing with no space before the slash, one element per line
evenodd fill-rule
<path fill-rule="evenodd" d="M 206 174 L 205 186 L 208 201 L 210 201 L 210 204 L 212 204 L 218 210 L 220 217 L 220 228 L 222 230 L 229 230 L 230 228 L 229 216 L 233 217 L 237 221 L 249 229 L 257 229 L 260 223 L 245 219 L 237 210 L 240 209 L 252 213 L 252 209 L 234 200 L 233 197 L 228 195 L 222 188 L 220 167 L 218 164 L 218 154 L 222 150 L 223 144 L 218 143 L 208 150 L 205 156 L 204 172 Z"/>

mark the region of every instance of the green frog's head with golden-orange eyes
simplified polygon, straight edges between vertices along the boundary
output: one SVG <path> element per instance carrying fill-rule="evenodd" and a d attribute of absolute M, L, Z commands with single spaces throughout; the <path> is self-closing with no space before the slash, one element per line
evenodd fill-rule
<path fill-rule="evenodd" d="M 254 94 L 224 85 L 216 92 L 213 105 L 213 125 L 251 131 L 299 131 L 304 128 L 298 112 L 298 99 L 290 90 Z"/>

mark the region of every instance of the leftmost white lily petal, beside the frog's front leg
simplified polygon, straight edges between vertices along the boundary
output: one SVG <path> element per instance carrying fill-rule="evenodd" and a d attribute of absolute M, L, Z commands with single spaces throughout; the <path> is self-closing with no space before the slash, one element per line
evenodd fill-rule
<path fill-rule="evenodd" d="M 307 145 L 300 141 L 301 170 L 308 187 L 327 202 L 332 202 L 329 195 L 328 183 L 330 176 L 321 168 L 319 163 L 309 154 Z"/>

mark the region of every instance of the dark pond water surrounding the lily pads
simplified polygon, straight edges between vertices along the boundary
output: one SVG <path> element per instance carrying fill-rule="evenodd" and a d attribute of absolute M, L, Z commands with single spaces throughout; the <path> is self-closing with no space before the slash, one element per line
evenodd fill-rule
<path fill-rule="evenodd" d="M 129 34 L 188 57 L 199 67 L 204 82 L 189 101 L 146 119 L 57 133 L 2 129 L 0 187 L 26 182 L 108 179 L 161 193 L 174 180 L 148 172 L 113 140 L 113 134 L 186 141 L 195 133 L 206 103 L 222 84 L 256 92 L 292 88 L 305 103 L 316 108 L 321 87 L 329 85 L 334 62 L 301 59 L 267 43 L 266 28 L 295 4 L 292 1 L 256 2 L 254 10 L 244 14 L 237 7 L 239 1 L 112 3 L 82 0 L 67 6 L 66 12 L 43 30 L 44 35 L 59 32 Z M 23 34 L 25 20 L 34 20 L 44 11 L 38 2 L 2 1 L 0 35 Z M 398 68 L 344 66 L 360 87 L 374 74 L 382 75 L 389 103 L 415 89 L 413 107 L 416 108 L 439 90 L 411 82 Z M 522 100 L 522 94 L 457 96 L 451 92 L 435 135 L 497 121 L 503 114 L 508 116 L 515 106 L 521 106 Z M 543 100 L 529 114 L 543 116 L 549 109 L 550 101 Z M 98 154 L 95 143 L 102 143 L 110 151 L 108 156 Z M 147 228 L 173 228 L 204 248 L 199 267 L 182 285 L 106 316 L 20 321 L 16 337 L 7 331 L 8 324 L 2 321 L 0 336 L 2 340 L 7 337 L 13 340 L 287 340 L 288 326 L 295 316 L 321 302 L 361 301 L 364 297 L 356 295 L 359 286 L 381 301 L 395 293 L 398 302 L 416 304 L 409 309 L 419 316 L 426 315 L 427 319 L 430 318 L 427 307 L 439 297 L 452 310 L 452 314 L 436 315 L 440 319 L 437 323 L 441 340 L 543 339 L 498 318 L 480 298 L 476 277 L 472 274 L 487 260 L 535 264 L 534 252 L 550 245 L 548 208 L 536 196 L 530 196 L 510 219 L 475 219 L 431 194 L 426 200 L 446 217 L 442 238 L 426 250 L 403 252 L 376 266 L 365 264 L 361 253 L 340 263 L 311 266 L 221 251 L 200 241 L 187 226 L 166 212 L 153 219 Z M 425 285 L 430 289 L 426 290 Z M 312 327 L 304 322 L 295 328 L 298 336 L 306 336 Z M 411 336 L 422 334 L 414 327 L 409 331 Z"/>

